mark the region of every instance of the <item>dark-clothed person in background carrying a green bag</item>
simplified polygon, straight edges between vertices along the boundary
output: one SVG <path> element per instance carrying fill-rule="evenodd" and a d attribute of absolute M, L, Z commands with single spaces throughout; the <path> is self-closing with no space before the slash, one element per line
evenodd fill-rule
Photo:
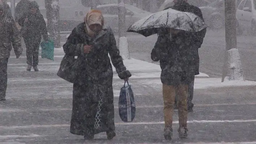
<path fill-rule="evenodd" d="M 37 2 L 31 1 L 30 14 L 24 15 L 26 18 L 20 18 L 19 22 L 24 29 L 22 36 L 26 44 L 27 71 L 38 71 L 39 45 L 43 36 L 43 40 L 47 42 L 48 34 L 46 23 L 43 15 L 39 11 Z"/>

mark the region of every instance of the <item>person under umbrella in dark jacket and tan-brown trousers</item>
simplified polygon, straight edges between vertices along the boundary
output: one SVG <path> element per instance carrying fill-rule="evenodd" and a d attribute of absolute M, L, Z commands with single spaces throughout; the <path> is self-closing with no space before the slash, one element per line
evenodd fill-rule
<path fill-rule="evenodd" d="M 191 32 L 164 29 L 158 32 L 158 39 L 151 52 L 153 61 L 160 61 L 161 82 L 163 83 L 163 103 L 165 133 L 172 139 L 172 115 L 175 96 L 178 96 L 179 138 L 187 138 L 187 96 L 188 85 L 192 82 L 193 71 Z"/>

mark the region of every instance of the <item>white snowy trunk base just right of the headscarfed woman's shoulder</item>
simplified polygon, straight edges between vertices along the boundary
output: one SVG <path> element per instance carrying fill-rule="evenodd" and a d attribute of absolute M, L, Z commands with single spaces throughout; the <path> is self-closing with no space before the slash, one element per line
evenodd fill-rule
<path fill-rule="evenodd" d="M 130 59 L 128 41 L 126 37 L 119 38 L 119 51 L 124 60 Z"/>

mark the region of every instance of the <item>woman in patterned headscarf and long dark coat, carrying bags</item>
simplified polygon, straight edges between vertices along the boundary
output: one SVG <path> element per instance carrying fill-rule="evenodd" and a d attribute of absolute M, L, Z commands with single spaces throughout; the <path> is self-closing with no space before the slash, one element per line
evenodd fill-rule
<path fill-rule="evenodd" d="M 85 139 L 93 139 L 100 132 L 106 132 L 107 139 L 114 138 L 111 62 L 121 79 L 128 80 L 131 73 L 123 64 L 111 28 L 104 26 L 101 11 L 88 12 L 85 22 L 72 30 L 63 49 L 69 56 L 78 55 L 70 132 Z"/>

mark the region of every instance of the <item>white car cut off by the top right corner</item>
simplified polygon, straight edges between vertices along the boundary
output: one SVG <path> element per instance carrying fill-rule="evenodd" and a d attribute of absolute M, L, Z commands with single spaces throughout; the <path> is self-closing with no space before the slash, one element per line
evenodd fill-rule
<path fill-rule="evenodd" d="M 256 0 L 242 0 L 236 10 L 239 29 L 256 35 Z"/>

